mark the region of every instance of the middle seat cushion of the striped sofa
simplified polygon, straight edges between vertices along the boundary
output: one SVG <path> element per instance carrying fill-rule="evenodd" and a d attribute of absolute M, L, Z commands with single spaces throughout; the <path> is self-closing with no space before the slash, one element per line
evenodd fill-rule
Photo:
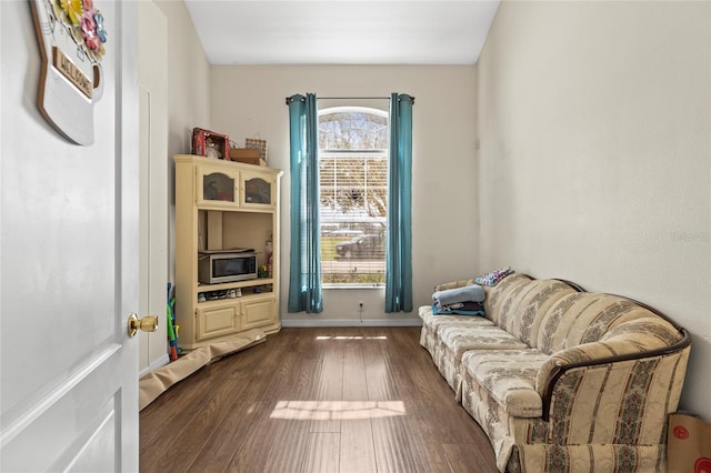
<path fill-rule="evenodd" d="M 493 325 L 444 324 L 437 334 L 457 361 L 469 350 L 528 349 L 525 343 Z"/>

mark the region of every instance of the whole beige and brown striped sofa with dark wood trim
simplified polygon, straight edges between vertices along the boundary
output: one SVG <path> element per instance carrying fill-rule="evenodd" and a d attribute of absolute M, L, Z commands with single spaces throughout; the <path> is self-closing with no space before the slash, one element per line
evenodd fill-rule
<path fill-rule="evenodd" d="M 489 436 L 499 470 L 664 472 L 688 332 L 640 302 L 567 281 L 514 273 L 484 289 L 485 316 L 420 308 L 420 343 Z"/>

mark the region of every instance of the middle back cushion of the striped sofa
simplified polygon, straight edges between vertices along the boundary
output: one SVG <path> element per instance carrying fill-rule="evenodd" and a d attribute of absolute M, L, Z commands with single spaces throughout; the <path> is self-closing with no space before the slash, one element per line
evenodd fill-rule
<path fill-rule="evenodd" d="M 561 298 L 577 291 L 554 279 L 534 280 L 511 292 L 509 310 L 501 314 L 499 326 L 529 346 L 535 346 L 545 313 Z"/>

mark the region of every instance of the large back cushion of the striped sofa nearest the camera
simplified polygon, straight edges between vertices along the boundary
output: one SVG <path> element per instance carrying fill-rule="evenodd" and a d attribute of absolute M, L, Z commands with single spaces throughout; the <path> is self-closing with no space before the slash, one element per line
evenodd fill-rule
<path fill-rule="evenodd" d="M 628 299 L 600 293 L 573 293 L 558 300 L 541 320 L 535 348 L 553 353 L 583 343 L 625 340 L 641 343 L 639 351 L 658 348 L 659 339 L 642 341 L 642 332 L 653 326 L 664 334 L 673 336 L 673 343 L 680 335 L 671 324 L 652 311 Z M 672 335 L 670 335 L 672 333 Z"/>

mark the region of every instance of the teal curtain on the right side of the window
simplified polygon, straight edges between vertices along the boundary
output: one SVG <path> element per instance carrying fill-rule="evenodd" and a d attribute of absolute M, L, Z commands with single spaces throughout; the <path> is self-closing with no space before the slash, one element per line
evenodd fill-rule
<path fill-rule="evenodd" d="M 390 98 L 390 181 L 385 312 L 412 312 L 412 104 L 414 98 Z"/>

